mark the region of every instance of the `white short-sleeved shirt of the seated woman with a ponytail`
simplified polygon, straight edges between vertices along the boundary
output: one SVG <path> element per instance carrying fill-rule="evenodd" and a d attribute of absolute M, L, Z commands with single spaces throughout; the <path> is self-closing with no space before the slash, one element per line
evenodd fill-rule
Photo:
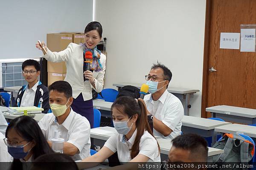
<path fill-rule="evenodd" d="M 112 152 L 118 154 L 120 163 L 131 161 L 131 147 L 134 144 L 136 138 L 137 129 L 131 138 L 127 141 L 125 135 L 115 133 L 105 142 L 104 146 L 108 147 Z M 157 140 L 145 131 L 140 138 L 139 154 L 145 155 L 149 158 L 149 162 L 160 162 L 160 153 L 157 146 Z"/>

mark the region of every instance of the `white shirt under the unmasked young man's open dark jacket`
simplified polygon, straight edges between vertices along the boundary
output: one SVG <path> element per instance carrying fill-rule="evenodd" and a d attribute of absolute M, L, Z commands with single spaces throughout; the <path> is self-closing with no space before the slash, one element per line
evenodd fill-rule
<path fill-rule="evenodd" d="M 30 89 L 29 89 L 29 85 L 28 84 L 26 85 L 26 89 L 21 99 L 20 107 L 34 106 L 35 92 L 37 90 L 38 84 L 39 84 L 39 81 Z"/>

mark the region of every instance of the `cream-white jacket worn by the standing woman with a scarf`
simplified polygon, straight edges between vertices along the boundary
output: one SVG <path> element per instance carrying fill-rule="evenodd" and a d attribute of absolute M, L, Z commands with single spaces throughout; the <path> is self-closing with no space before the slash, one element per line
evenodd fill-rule
<path fill-rule="evenodd" d="M 92 99 L 92 88 L 96 92 L 101 92 L 103 89 L 103 78 L 106 69 L 106 56 L 101 53 L 100 62 L 102 63 L 102 71 L 93 71 L 93 78 L 95 78 L 95 87 L 90 84 L 90 81 L 84 81 L 84 58 L 83 47 L 76 43 L 70 43 L 67 49 L 61 52 L 51 52 L 47 49 L 47 54 L 42 56 L 51 62 L 65 61 L 67 66 L 67 75 L 64 81 L 67 81 L 72 86 L 73 98 L 77 98 L 82 93 L 84 101 Z"/>

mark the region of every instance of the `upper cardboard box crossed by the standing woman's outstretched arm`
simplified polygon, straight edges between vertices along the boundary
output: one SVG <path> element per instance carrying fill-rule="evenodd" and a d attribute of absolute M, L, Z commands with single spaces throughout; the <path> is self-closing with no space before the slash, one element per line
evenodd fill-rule
<path fill-rule="evenodd" d="M 70 34 L 47 34 L 47 48 L 52 52 L 60 52 L 67 48 L 67 46 L 73 42 L 73 35 Z M 66 73 L 66 63 L 52 63 L 47 62 L 48 72 Z"/>

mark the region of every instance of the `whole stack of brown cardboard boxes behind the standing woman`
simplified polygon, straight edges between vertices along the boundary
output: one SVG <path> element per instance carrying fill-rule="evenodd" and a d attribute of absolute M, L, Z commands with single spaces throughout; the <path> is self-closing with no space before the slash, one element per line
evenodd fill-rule
<path fill-rule="evenodd" d="M 47 48 L 52 52 L 60 52 L 67 48 L 69 43 L 84 43 L 84 34 L 78 32 L 61 32 L 47 34 Z M 47 62 L 48 86 L 55 81 L 64 80 L 67 73 L 66 63 Z"/>

